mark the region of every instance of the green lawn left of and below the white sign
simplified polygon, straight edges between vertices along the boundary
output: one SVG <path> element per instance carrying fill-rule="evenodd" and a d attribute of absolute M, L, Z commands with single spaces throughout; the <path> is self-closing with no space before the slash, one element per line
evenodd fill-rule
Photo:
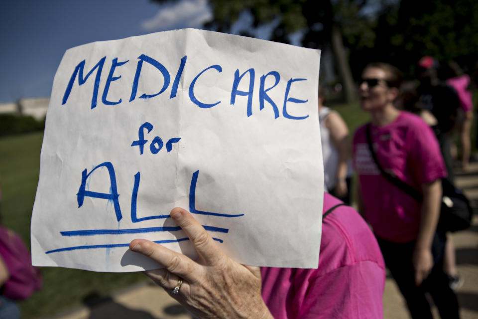
<path fill-rule="evenodd" d="M 2 223 L 19 233 L 28 247 L 42 138 L 41 132 L 0 138 Z M 20 302 L 22 318 L 51 316 L 80 305 L 92 293 L 108 295 L 146 278 L 141 273 L 95 273 L 58 267 L 41 270 L 43 287 L 30 299 Z"/>

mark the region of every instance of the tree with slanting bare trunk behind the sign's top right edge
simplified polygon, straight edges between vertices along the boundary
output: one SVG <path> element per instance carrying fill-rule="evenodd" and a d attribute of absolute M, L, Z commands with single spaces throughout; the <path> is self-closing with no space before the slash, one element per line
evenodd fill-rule
<path fill-rule="evenodd" d="M 205 25 L 208 29 L 231 32 L 239 17 L 247 14 L 252 21 L 241 35 L 253 36 L 253 29 L 271 25 L 269 40 L 290 43 L 290 35 L 300 32 L 303 46 L 331 48 L 345 100 L 355 99 L 346 45 L 373 42 L 372 22 L 362 12 L 367 0 L 209 0 L 209 4 L 214 18 Z"/>

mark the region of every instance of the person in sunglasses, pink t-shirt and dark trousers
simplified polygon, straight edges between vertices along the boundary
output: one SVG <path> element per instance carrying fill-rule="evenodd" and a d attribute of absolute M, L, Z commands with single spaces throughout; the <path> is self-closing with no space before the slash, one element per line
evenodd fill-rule
<path fill-rule="evenodd" d="M 443 272 L 444 234 L 437 233 L 441 178 L 447 176 L 440 147 L 431 128 L 414 114 L 395 108 L 400 71 L 371 63 L 362 72 L 360 106 L 370 123 L 354 136 L 353 162 L 359 176 L 359 212 L 370 224 L 385 264 L 407 303 L 412 318 L 432 319 L 429 292 L 442 319 L 459 318 L 458 300 Z M 423 195 L 421 202 L 387 180 L 394 175 Z"/>

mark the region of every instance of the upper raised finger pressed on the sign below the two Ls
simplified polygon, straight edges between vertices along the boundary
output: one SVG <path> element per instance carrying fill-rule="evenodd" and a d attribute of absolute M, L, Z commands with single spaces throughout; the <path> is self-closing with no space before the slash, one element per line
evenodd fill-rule
<path fill-rule="evenodd" d="M 223 252 L 209 236 L 203 226 L 183 208 L 173 208 L 171 218 L 181 227 L 193 243 L 199 256 L 207 265 L 214 265 L 223 257 Z"/>

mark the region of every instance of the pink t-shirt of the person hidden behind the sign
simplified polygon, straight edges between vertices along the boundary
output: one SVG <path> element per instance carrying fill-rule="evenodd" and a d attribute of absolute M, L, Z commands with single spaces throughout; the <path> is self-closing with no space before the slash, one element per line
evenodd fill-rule
<path fill-rule="evenodd" d="M 341 203 L 324 194 L 324 212 Z M 275 319 L 383 318 L 385 265 L 361 216 L 349 206 L 322 223 L 317 269 L 261 268 L 262 298 Z"/>

